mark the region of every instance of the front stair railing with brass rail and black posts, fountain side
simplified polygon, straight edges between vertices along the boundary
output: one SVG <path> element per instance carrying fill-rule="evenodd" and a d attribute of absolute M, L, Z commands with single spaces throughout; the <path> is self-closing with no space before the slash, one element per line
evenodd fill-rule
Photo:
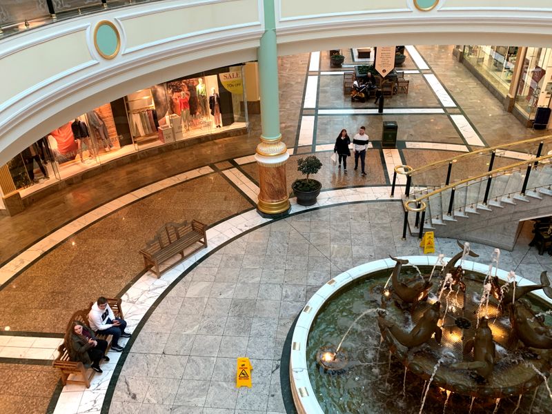
<path fill-rule="evenodd" d="M 439 215 L 442 215 L 442 220 L 446 221 L 446 218 L 443 215 L 445 205 L 447 217 L 452 217 L 455 214 L 455 211 L 457 211 L 456 215 L 465 216 L 466 213 L 474 212 L 477 206 L 480 206 L 480 201 L 482 206 L 487 206 L 492 199 L 495 199 L 495 202 L 499 203 L 500 201 L 504 201 L 504 199 L 508 201 L 512 198 L 512 196 L 515 197 L 517 194 L 525 196 L 530 190 L 536 190 L 546 186 L 548 186 L 548 189 L 551 190 L 552 175 L 550 175 L 551 180 L 547 182 L 540 181 L 543 177 L 544 179 L 547 178 L 546 174 L 540 175 L 540 177 L 538 177 L 540 179 L 535 179 L 535 174 L 533 174 L 533 176 L 531 175 L 532 171 L 544 170 L 544 168 L 549 168 L 552 173 L 552 168 L 550 168 L 551 166 L 552 155 L 544 155 L 530 160 L 518 161 L 508 166 L 502 166 L 479 175 L 474 175 L 473 177 L 461 179 L 459 181 L 455 181 L 453 184 L 447 184 L 446 186 L 437 188 L 433 191 L 428 191 L 426 189 L 428 193 L 418 195 L 414 198 L 409 198 L 408 195 L 406 195 L 406 199 L 403 201 L 404 226 L 402 237 L 403 239 L 406 239 L 408 212 L 416 213 L 415 228 L 419 228 L 418 237 L 421 239 L 424 233 L 424 223 L 426 222 L 426 210 L 428 210 L 428 207 L 430 211 L 430 220 L 439 220 Z M 523 172 L 524 174 L 522 174 Z M 513 179 L 513 176 L 516 174 L 519 175 L 518 180 L 517 176 Z M 533 177 L 533 179 L 531 179 L 531 177 Z M 496 181 L 500 178 L 502 178 L 500 183 L 502 187 L 497 186 L 497 189 L 491 192 L 491 186 L 494 182 L 493 180 Z M 475 188 L 475 186 L 477 186 L 477 188 Z M 472 190 L 472 195 L 474 195 L 475 198 L 469 198 L 470 189 Z M 462 195 L 465 197 L 461 198 L 457 196 L 457 193 L 460 191 L 462 191 Z M 408 193 L 408 188 L 406 189 L 406 193 Z M 431 212 L 431 199 L 435 199 L 435 197 L 441 198 L 441 207 L 438 209 L 439 213 L 437 215 L 434 215 L 433 212 Z M 447 201 L 447 204 L 443 204 L 445 201 Z"/>

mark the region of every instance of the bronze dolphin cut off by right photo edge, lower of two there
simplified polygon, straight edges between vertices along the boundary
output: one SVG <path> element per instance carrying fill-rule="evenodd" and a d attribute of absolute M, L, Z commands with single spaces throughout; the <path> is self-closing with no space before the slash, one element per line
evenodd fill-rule
<path fill-rule="evenodd" d="M 534 326 L 538 322 L 532 324 L 530 319 L 535 319 L 533 313 L 521 302 L 515 302 L 513 312 L 510 313 L 510 320 L 517 339 L 520 339 L 525 346 L 551 349 L 552 336 L 546 326 Z"/>

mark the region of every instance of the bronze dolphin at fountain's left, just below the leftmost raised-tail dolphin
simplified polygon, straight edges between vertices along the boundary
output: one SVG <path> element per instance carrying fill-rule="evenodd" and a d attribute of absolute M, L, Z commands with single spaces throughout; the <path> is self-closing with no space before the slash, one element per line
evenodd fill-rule
<path fill-rule="evenodd" d="M 399 328 L 392 322 L 388 322 L 382 315 L 377 317 L 377 323 L 380 324 L 380 329 L 383 332 L 388 330 L 389 333 L 397 339 L 398 342 L 407 346 L 408 348 L 413 348 L 414 346 L 420 346 L 429 339 L 435 333 L 435 340 L 437 343 L 441 343 L 442 331 L 439 326 L 437 326 L 437 321 L 441 316 L 440 314 L 441 302 L 435 302 L 424 312 L 422 319 L 420 319 L 417 324 L 414 326 L 412 331 L 405 332 L 402 328 Z"/>

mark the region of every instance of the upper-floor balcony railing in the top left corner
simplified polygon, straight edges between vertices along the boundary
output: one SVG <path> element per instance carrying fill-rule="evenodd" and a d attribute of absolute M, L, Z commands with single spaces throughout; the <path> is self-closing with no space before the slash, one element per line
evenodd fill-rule
<path fill-rule="evenodd" d="M 12 34 L 72 19 L 106 8 L 120 8 L 160 0 L 23 0 L 0 2 L 0 39 Z"/>

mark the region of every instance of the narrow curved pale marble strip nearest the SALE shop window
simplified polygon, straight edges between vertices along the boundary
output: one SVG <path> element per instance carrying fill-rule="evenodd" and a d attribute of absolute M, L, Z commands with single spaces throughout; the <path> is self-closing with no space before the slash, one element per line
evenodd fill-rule
<path fill-rule="evenodd" d="M 79 231 L 87 228 L 91 224 L 94 224 L 99 219 L 103 219 L 107 215 L 114 213 L 120 208 L 126 207 L 129 204 L 155 194 L 166 188 L 175 186 L 177 184 L 184 183 L 190 179 L 195 179 L 213 172 L 213 168 L 204 166 L 201 168 L 195 168 L 186 172 L 181 172 L 172 177 L 161 179 L 155 183 L 148 184 L 147 186 L 133 190 L 130 193 L 117 197 L 108 201 L 106 204 L 102 204 L 97 208 L 90 210 L 88 213 L 77 217 L 70 221 L 68 224 L 61 226 L 54 232 L 50 233 L 43 239 L 32 244 L 29 248 L 26 248 L 21 253 L 13 257 L 9 262 L 0 267 L 0 289 L 5 288 L 10 280 L 17 276 L 21 270 L 32 264 L 35 260 L 39 259 L 43 254 L 49 250 L 64 242 L 66 239 L 75 235 Z"/>

